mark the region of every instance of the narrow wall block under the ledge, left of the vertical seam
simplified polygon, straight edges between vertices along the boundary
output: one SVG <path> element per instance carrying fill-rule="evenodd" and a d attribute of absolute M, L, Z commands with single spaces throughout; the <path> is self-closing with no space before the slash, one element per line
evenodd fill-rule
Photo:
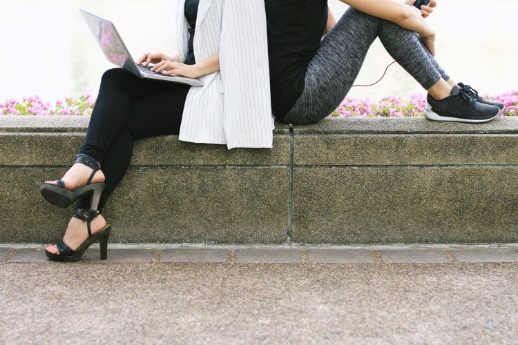
<path fill-rule="evenodd" d="M 1 130 L 1 129 L 0 129 Z M 64 166 L 73 164 L 83 132 L 0 132 L 0 166 Z M 35 145 L 35 142 L 38 144 Z M 136 141 L 133 166 L 287 166 L 289 135 L 276 135 L 274 148 L 236 148 L 178 141 L 164 135 Z M 23 152 L 23 155 L 20 153 Z M 66 171 L 66 170 L 65 170 Z"/>

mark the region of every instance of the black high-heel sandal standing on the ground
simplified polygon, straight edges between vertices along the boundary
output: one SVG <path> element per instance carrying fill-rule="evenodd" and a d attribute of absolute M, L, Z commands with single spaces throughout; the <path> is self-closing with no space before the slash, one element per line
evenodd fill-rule
<path fill-rule="evenodd" d="M 93 235 L 92 230 L 90 228 L 92 220 L 100 214 L 101 213 L 97 210 L 87 210 L 86 208 L 78 208 L 77 210 L 75 210 L 72 217 L 86 221 L 88 238 L 76 250 L 72 250 L 66 243 L 60 242 L 56 245 L 59 254 L 53 254 L 45 250 L 47 257 L 51 260 L 59 262 L 78 262 L 83 256 L 84 252 L 86 252 L 88 247 L 90 247 L 93 243 L 99 241 L 99 244 L 101 245 L 101 259 L 108 259 L 108 237 L 110 236 L 111 225 L 106 224 L 104 228 L 97 231 L 97 233 Z"/>

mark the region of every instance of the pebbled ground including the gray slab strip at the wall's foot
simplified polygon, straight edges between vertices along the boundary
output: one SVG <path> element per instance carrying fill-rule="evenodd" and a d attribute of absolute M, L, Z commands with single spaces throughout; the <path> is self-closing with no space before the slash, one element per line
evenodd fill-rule
<path fill-rule="evenodd" d="M 517 344 L 516 248 L 0 248 L 0 342 Z"/>

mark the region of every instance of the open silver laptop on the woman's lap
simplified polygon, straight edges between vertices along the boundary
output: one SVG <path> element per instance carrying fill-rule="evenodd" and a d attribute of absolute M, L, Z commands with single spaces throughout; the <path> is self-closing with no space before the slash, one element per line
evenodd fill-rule
<path fill-rule="evenodd" d="M 97 43 L 104 52 L 104 56 L 108 61 L 113 63 L 115 66 L 124 68 L 131 74 L 143 78 L 143 79 L 155 79 L 162 81 L 171 81 L 173 83 L 184 83 L 191 86 L 203 86 L 203 81 L 200 79 L 181 77 L 180 75 L 163 75 L 162 73 L 153 72 L 151 68 L 154 66 L 152 63 L 148 66 L 137 66 L 135 60 L 132 59 L 128 48 L 122 41 L 122 38 L 117 32 L 115 25 L 111 21 L 102 19 L 90 12 L 79 8 L 81 14 L 83 14 L 88 28 L 92 31 Z"/>

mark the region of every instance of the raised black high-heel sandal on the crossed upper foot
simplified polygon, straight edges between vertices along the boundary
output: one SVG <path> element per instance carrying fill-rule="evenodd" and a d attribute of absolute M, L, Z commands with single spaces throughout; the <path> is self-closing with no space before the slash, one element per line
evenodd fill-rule
<path fill-rule="evenodd" d="M 85 186 L 76 188 L 75 190 L 69 190 L 65 188 L 65 184 L 62 179 L 57 179 L 55 180 L 57 185 L 46 183 L 41 184 L 39 188 L 41 195 L 43 195 L 44 199 L 50 202 L 50 204 L 61 208 L 67 208 L 70 204 L 79 199 L 81 195 L 92 193 L 90 197 L 90 208 L 97 210 L 99 199 L 101 199 L 101 194 L 106 184 L 104 182 L 96 182 L 95 184 L 91 182 L 95 172 L 101 170 L 101 167 L 97 164 L 95 159 L 82 153 L 76 156 L 74 164 L 76 163 L 84 164 L 93 169 L 93 172 L 90 174 L 90 178 L 88 179 L 88 182 L 86 182 Z"/>

